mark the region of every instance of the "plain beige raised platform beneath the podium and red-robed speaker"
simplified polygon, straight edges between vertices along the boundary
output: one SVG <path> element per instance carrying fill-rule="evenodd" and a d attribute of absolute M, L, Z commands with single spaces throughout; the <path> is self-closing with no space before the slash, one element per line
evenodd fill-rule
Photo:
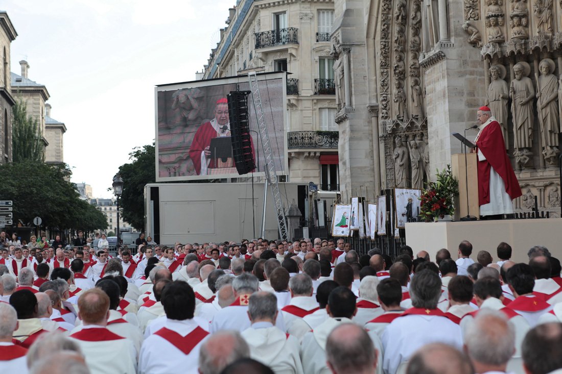
<path fill-rule="evenodd" d="M 406 224 L 406 244 L 414 250 L 427 250 L 431 261 L 441 248 L 447 248 L 457 259 L 459 243 L 468 240 L 473 245 L 472 258 L 487 250 L 494 262 L 496 248 L 502 241 L 511 245 L 515 262 L 528 262 L 527 251 L 534 245 L 544 245 L 552 256 L 562 260 L 562 218 L 537 220 L 497 220 L 472 222 L 411 222 Z"/>

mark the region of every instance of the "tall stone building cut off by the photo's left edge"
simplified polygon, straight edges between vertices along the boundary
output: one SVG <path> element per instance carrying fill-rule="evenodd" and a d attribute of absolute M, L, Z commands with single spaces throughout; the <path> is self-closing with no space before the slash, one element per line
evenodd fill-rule
<path fill-rule="evenodd" d="M 6 12 L 0 11 L 0 163 L 12 162 L 12 97 L 10 45 L 17 37 Z"/>

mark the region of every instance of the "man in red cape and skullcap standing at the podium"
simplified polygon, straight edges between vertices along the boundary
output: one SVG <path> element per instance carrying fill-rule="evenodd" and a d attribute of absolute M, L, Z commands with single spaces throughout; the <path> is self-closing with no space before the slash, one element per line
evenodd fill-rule
<path fill-rule="evenodd" d="M 481 124 L 476 136 L 480 215 L 513 213 L 511 200 L 520 197 L 522 192 L 505 152 L 500 124 L 486 106 L 479 108 L 478 122 Z"/>

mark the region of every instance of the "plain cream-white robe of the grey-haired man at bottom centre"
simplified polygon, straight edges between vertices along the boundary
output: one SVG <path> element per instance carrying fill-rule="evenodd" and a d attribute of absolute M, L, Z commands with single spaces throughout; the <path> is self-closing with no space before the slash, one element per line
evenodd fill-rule
<path fill-rule="evenodd" d="M 257 322 L 242 331 L 250 357 L 269 366 L 275 374 L 303 374 L 298 341 L 269 322 Z"/>

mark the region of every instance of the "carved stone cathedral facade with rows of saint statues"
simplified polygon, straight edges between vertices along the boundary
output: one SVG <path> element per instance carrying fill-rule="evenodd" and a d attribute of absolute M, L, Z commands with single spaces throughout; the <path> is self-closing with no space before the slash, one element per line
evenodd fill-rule
<path fill-rule="evenodd" d="M 523 196 L 560 216 L 562 1 L 336 0 L 342 190 L 422 188 L 486 104 Z M 466 131 L 474 139 L 477 130 Z M 476 181 L 474 181 L 474 184 Z M 374 185 L 373 185 L 374 184 Z"/>

